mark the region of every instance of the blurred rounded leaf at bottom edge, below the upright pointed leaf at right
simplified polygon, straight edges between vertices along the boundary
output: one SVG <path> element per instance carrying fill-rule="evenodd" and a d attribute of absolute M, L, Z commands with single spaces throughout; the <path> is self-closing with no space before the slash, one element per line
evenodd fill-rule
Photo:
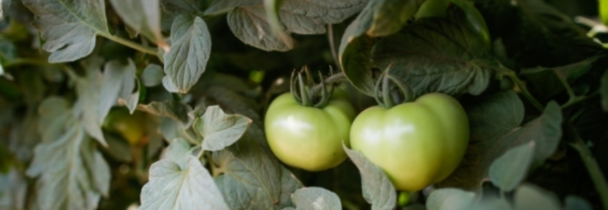
<path fill-rule="evenodd" d="M 534 185 L 522 185 L 515 191 L 513 197 L 517 210 L 559 210 L 559 199 L 552 192 L 540 189 Z"/>

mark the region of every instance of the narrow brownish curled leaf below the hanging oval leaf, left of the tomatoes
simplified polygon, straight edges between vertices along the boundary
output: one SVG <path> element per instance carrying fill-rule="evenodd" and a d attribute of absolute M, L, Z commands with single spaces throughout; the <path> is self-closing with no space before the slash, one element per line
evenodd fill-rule
<path fill-rule="evenodd" d="M 183 104 L 179 101 L 153 101 L 150 104 L 138 104 L 137 110 L 145 111 L 155 116 L 169 117 L 185 125 L 189 125 L 191 122 L 188 113 L 192 111 L 192 108 L 188 104 Z"/>

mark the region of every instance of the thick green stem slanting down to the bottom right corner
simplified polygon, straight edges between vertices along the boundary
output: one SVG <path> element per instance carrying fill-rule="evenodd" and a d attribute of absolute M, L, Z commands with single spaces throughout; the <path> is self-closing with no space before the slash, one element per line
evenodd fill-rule
<path fill-rule="evenodd" d="M 571 123 L 567 123 L 565 127 L 564 134 L 570 135 L 571 139 L 574 141 L 571 142 L 570 145 L 578 151 L 578 154 L 580 154 L 580 159 L 585 163 L 591 180 L 593 180 L 595 188 L 600 194 L 600 200 L 602 200 L 604 209 L 608 210 L 608 183 L 606 183 L 606 180 L 604 179 L 600 166 L 597 164 L 597 161 L 595 161 L 595 158 L 593 158 L 593 155 L 585 142 L 583 142 L 580 135 L 578 135 L 576 128 L 574 128 Z"/>

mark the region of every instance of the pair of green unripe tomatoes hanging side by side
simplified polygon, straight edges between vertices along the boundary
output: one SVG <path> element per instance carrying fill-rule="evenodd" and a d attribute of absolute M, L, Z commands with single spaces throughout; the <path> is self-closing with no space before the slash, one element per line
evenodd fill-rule
<path fill-rule="evenodd" d="M 425 94 L 356 118 L 346 97 L 336 91 L 321 108 L 302 106 L 289 93 L 277 97 L 265 119 L 270 149 L 289 166 L 322 171 L 346 159 L 345 144 L 382 168 L 396 189 L 412 192 L 447 178 L 463 159 L 469 123 L 453 97 Z"/>

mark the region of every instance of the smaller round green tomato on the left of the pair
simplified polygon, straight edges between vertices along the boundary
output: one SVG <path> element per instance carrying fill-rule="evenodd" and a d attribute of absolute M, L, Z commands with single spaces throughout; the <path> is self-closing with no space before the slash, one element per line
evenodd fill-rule
<path fill-rule="evenodd" d="M 335 89 L 322 109 L 302 106 L 290 93 L 277 97 L 264 121 L 266 139 L 275 156 L 295 168 L 323 171 L 346 159 L 354 108 L 345 92 Z"/>

